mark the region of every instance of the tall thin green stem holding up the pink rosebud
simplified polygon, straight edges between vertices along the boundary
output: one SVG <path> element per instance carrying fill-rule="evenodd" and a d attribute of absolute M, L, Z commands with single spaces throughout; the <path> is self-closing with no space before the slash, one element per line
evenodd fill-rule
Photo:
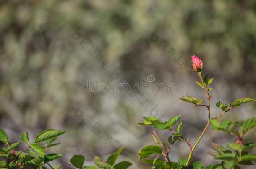
<path fill-rule="evenodd" d="M 206 130 L 208 129 L 208 127 L 210 126 L 210 104 L 211 104 L 211 97 L 209 96 L 209 93 L 207 92 L 207 89 L 206 89 L 206 86 L 204 85 L 204 81 L 203 81 L 203 78 L 202 78 L 202 73 L 201 72 L 198 72 L 197 73 L 200 80 L 201 80 L 201 83 L 202 83 L 202 86 L 204 87 L 204 92 L 206 93 L 206 97 L 208 99 L 208 121 L 207 121 L 207 124 L 204 128 L 204 130 L 202 131 L 201 135 L 199 136 L 199 138 L 196 140 L 196 143 L 194 144 L 194 146 L 192 147 L 192 149 L 190 150 L 190 153 L 188 155 L 188 160 L 185 164 L 185 166 L 188 166 L 189 164 L 189 161 L 191 160 L 191 156 L 193 154 L 193 151 L 194 149 L 196 148 L 196 146 L 199 144 L 199 141 L 201 140 L 201 138 L 204 136 L 204 133 L 206 132 Z"/>

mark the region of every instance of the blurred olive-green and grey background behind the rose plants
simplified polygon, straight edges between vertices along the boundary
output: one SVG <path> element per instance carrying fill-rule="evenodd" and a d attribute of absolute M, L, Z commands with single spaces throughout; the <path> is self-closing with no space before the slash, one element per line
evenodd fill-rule
<path fill-rule="evenodd" d="M 94 45 L 105 60 L 89 53 Z M 154 129 L 139 126 L 141 116 L 182 114 L 183 133 L 192 144 L 206 125 L 205 108 L 178 99 L 204 97 L 195 83 L 196 73 L 180 67 L 191 68 L 193 54 L 204 62 L 204 73 L 214 77 L 212 116 L 221 113 L 217 101 L 255 98 L 256 1 L 0 0 L 0 128 L 10 142 L 25 131 L 31 140 L 44 129 L 67 131 L 58 139 L 62 144 L 49 150 L 64 154 L 53 163 L 63 168 L 71 168 L 65 163 L 77 149 L 86 156 L 86 164 L 92 164 L 95 155 L 106 158 L 125 146 L 118 161 L 133 162 L 131 169 L 147 169 L 136 153 L 154 144 Z M 81 90 L 88 80 L 106 85 L 123 78 L 131 84 L 149 83 L 149 75 L 154 76 L 152 84 L 174 83 L 174 92 L 144 92 L 148 101 L 141 106 L 125 92 Z M 256 116 L 255 109 L 256 103 L 247 103 L 220 121 Z M 94 121 L 86 124 L 88 118 Z M 91 129 L 94 125 L 101 126 L 100 134 Z M 105 132 L 112 139 L 104 140 Z M 165 141 L 169 135 L 159 131 Z M 245 139 L 255 140 L 255 131 Z M 210 141 L 225 144 L 235 138 L 209 129 L 192 162 L 218 162 L 206 152 Z M 177 161 L 188 153 L 187 145 L 178 143 L 170 159 Z"/>

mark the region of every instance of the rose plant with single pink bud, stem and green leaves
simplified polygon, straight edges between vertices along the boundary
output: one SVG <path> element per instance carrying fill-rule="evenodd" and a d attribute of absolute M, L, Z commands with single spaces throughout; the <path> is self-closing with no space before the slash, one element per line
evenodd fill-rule
<path fill-rule="evenodd" d="M 214 159 L 219 159 L 221 162 L 219 164 L 212 164 L 207 166 L 206 169 L 240 169 L 241 165 L 253 165 L 252 161 L 256 161 L 256 155 L 249 154 L 247 151 L 252 147 L 256 146 L 256 143 L 244 143 L 243 137 L 245 134 L 256 126 L 256 119 L 250 118 L 246 121 L 223 121 L 220 123 L 217 119 L 220 116 L 223 116 L 232 108 L 240 107 L 241 104 L 256 101 L 252 98 L 240 98 L 232 101 L 229 105 L 222 103 L 221 101 L 216 103 L 216 106 L 220 108 L 223 112 L 217 116 L 211 118 L 211 94 L 210 91 L 213 88 L 209 88 L 209 85 L 212 83 L 213 78 L 208 78 L 208 74 L 202 77 L 202 69 L 203 62 L 199 57 L 193 55 L 191 57 L 192 67 L 193 69 L 189 69 L 190 71 L 196 72 L 199 76 L 200 81 L 196 81 L 196 84 L 204 90 L 206 94 L 207 103 L 204 104 L 204 98 L 198 99 L 191 96 L 183 96 L 179 98 L 182 101 L 192 103 L 195 106 L 206 107 L 208 112 L 208 120 L 206 122 L 206 126 L 203 129 L 201 135 L 198 137 L 195 144 L 191 144 L 191 142 L 184 138 L 181 134 L 183 120 L 181 120 L 178 124 L 177 129 L 174 128 L 174 125 L 178 123 L 181 118 L 181 115 L 174 116 L 170 118 L 168 121 L 161 121 L 155 117 L 143 117 L 144 121 L 139 123 L 143 126 L 153 126 L 159 130 L 170 130 L 172 132 L 172 136 L 168 136 L 168 143 L 162 141 L 157 132 L 153 131 L 153 139 L 156 145 L 149 145 L 142 148 L 138 155 L 140 156 L 140 160 L 145 163 L 152 164 L 151 169 L 202 169 L 204 164 L 200 161 L 195 162 L 193 165 L 190 165 L 191 156 L 193 155 L 193 151 L 196 146 L 199 144 L 202 136 L 205 134 L 206 130 L 210 125 L 212 125 L 212 129 L 224 131 L 232 136 L 235 136 L 237 141 L 235 143 L 227 143 L 226 147 L 211 143 L 214 151 L 209 151 L 208 153 L 214 157 Z M 175 144 L 176 141 L 183 141 L 188 145 L 189 155 L 187 159 L 180 158 L 178 162 L 170 161 L 170 149 Z M 154 158 L 147 158 L 152 155 L 155 155 Z M 162 156 L 162 158 L 161 158 Z"/>

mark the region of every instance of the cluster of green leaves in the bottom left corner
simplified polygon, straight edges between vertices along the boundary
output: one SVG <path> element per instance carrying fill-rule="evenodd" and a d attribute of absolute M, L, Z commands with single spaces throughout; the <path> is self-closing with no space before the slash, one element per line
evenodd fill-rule
<path fill-rule="evenodd" d="M 21 141 L 13 144 L 9 144 L 8 136 L 3 129 L 0 129 L 0 141 L 3 142 L 6 147 L 0 148 L 0 168 L 5 169 L 19 169 L 30 167 L 33 169 L 47 169 L 44 164 L 49 164 L 50 161 L 58 159 L 62 154 L 47 154 L 46 151 L 49 147 L 56 146 L 60 143 L 54 143 L 58 136 L 64 134 L 65 131 L 49 129 L 39 133 L 34 141 L 29 141 L 28 133 L 24 133 L 20 136 L 21 141 L 27 145 L 26 149 L 22 151 L 15 151 Z M 39 143 L 41 143 L 39 145 Z M 59 169 L 60 166 L 51 168 Z"/>

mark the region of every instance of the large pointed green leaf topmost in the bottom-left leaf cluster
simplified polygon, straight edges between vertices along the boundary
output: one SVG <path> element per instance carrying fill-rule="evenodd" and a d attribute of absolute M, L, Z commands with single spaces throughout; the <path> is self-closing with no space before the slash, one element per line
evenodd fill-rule
<path fill-rule="evenodd" d="M 61 130 L 54 130 L 54 129 L 44 130 L 37 135 L 37 137 L 34 140 L 34 143 L 52 139 L 64 133 L 65 131 L 61 131 Z"/>

